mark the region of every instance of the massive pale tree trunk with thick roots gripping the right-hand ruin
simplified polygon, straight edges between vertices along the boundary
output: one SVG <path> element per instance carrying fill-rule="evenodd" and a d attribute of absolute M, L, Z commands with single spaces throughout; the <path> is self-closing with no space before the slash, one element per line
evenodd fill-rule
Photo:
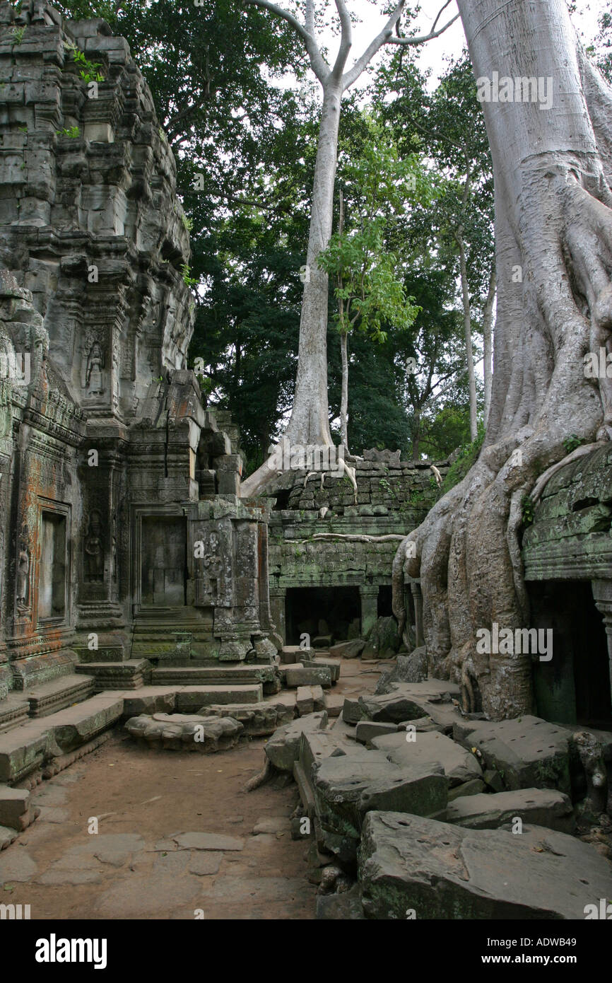
<path fill-rule="evenodd" d="M 394 611 L 403 626 L 404 575 L 420 577 L 430 673 L 463 682 L 468 709 L 479 688 L 499 720 L 533 709 L 529 654 L 476 652 L 478 628 L 529 626 L 523 498 L 566 456 L 565 437 L 612 435 L 612 380 L 585 378 L 583 362 L 612 328 L 612 89 L 565 0 L 458 2 L 476 78 L 537 75 L 553 101 L 483 104 L 498 278 L 488 430 L 467 477 L 398 550 Z"/>

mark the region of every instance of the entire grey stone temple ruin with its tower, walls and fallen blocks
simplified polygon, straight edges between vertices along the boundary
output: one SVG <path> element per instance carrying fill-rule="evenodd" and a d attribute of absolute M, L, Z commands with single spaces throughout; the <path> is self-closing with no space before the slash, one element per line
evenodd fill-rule
<path fill-rule="evenodd" d="M 299 792 L 318 917 L 583 918 L 612 893 L 609 449 L 550 479 L 525 534 L 559 639 L 538 716 L 465 713 L 427 678 L 418 582 L 403 638 L 391 607 L 450 462 L 365 451 L 356 492 L 289 471 L 241 496 L 240 435 L 187 368 L 189 236 L 150 92 L 104 22 L 26 6 L 0 4 L 0 881 L 36 789 L 113 732 L 268 737 L 249 786 Z"/>

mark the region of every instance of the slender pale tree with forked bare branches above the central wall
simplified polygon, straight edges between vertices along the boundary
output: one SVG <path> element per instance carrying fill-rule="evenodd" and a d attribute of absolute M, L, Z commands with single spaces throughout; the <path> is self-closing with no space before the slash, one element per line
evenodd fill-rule
<path fill-rule="evenodd" d="M 291 418 L 285 432 L 291 444 L 331 445 L 329 432 L 329 407 L 327 399 L 327 303 L 328 277 L 319 268 L 317 257 L 331 237 L 333 221 L 333 196 L 338 153 L 338 126 L 343 93 L 362 75 L 368 64 L 384 44 L 417 45 L 438 37 L 453 24 L 457 17 L 438 27 L 441 14 L 450 6 L 443 5 L 432 29 L 422 36 L 399 36 L 399 23 L 406 0 L 399 0 L 385 27 L 368 44 L 362 56 L 345 71 L 352 46 L 352 28 L 345 0 L 335 0 L 340 22 L 340 45 L 333 66 L 325 61 L 314 28 L 314 0 L 306 0 L 305 23 L 291 12 L 283 10 L 269 0 L 244 0 L 245 4 L 269 10 L 282 18 L 298 33 L 306 46 L 310 67 L 323 90 L 321 119 L 318 136 L 314 181 L 312 185 L 310 227 L 306 254 L 306 276 L 302 317 L 300 320 L 300 347 L 296 392 Z M 458 16 L 458 15 L 457 15 Z M 394 31 L 398 31 L 394 34 Z M 263 492 L 276 477 L 274 457 L 265 461 L 243 482 L 241 494 L 250 497 Z"/>

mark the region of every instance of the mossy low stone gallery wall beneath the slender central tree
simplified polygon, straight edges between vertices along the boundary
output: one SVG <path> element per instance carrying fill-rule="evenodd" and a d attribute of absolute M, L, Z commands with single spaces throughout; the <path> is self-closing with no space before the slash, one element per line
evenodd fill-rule
<path fill-rule="evenodd" d="M 279 476 L 269 525 L 269 575 L 273 620 L 285 638 L 291 592 L 315 587 L 331 592 L 357 589 L 360 632 L 369 632 L 378 617 L 380 589 L 391 586 L 398 543 L 417 528 L 438 496 L 431 464 L 400 461 L 399 451 L 363 451 L 363 457 L 351 465 L 357 502 L 346 476 L 327 474 L 322 486 L 320 475 L 308 476 L 306 471 Z M 434 467 L 443 480 L 449 462 L 438 461 Z M 315 539 L 320 534 L 328 538 Z M 370 542 L 343 537 L 369 537 Z M 380 537 L 390 538 L 376 542 Z M 410 592 L 408 609 L 415 623 L 417 611 Z M 321 616 L 312 612 L 315 621 Z M 341 640 L 341 635 L 335 640 Z"/>

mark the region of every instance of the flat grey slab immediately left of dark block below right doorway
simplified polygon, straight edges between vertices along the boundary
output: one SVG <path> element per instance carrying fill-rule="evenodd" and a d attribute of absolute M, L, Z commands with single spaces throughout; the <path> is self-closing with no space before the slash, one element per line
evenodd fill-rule
<path fill-rule="evenodd" d="M 398 731 L 395 734 L 374 737 L 372 747 L 384 751 L 389 761 L 402 767 L 441 765 L 451 787 L 482 778 L 477 758 L 461 744 L 436 730 L 421 733 Z"/>

